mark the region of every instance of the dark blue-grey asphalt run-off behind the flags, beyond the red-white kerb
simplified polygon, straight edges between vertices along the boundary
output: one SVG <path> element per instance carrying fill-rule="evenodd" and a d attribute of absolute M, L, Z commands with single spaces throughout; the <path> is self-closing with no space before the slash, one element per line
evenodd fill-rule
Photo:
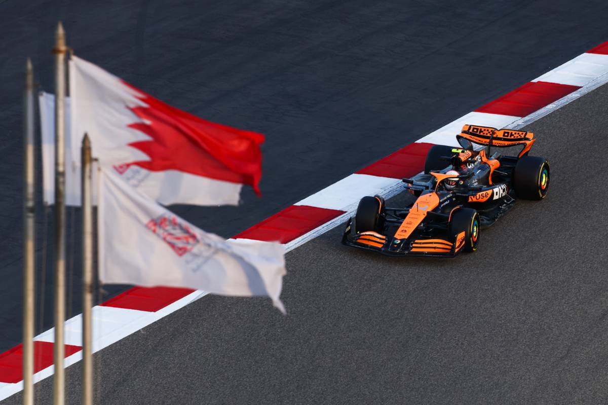
<path fill-rule="evenodd" d="M 172 207 L 230 237 L 606 41 L 607 14 L 605 1 L 570 0 L 0 0 L 0 352 L 21 341 L 22 72 L 32 57 L 52 91 L 58 20 L 80 57 L 266 134 L 262 198 L 246 189 L 238 207 Z M 46 218 L 39 202 L 38 332 L 52 321 L 52 209 Z M 78 210 L 67 224 L 69 317 L 80 313 Z"/>

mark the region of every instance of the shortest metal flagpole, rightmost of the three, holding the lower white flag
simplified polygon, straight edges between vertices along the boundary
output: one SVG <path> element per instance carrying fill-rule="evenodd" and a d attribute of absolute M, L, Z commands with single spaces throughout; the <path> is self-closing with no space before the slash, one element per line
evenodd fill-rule
<path fill-rule="evenodd" d="M 82 140 L 82 404 L 93 403 L 92 306 L 93 306 L 93 213 L 91 206 L 91 142 Z"/>

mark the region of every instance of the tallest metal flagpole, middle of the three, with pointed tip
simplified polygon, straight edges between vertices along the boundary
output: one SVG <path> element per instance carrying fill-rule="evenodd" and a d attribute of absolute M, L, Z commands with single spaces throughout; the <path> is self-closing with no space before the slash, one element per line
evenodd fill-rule
<path fill-rule="evenodd" d="M 55 345 L 53 403 L 63 405 L 65 400 L 65 370 L 63 360 L 64 322 L 66 316 L 66 207 L 64 201 L 65 164 L 65 122 L 64 98 L 66 95 L 66 38 L 61 22 L 55 32 Z"/>

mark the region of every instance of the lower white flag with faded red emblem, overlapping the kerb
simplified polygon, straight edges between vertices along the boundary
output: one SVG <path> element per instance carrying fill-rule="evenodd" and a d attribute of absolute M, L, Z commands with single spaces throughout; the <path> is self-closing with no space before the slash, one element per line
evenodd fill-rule
<path fill-rule="evenodd" d="M 225 296 L 279 299 L 280 243 L 226 241 L 146 198 L 111 170 L 100 175 L 99 277 L 104 283 L 176 286 Z"/>

